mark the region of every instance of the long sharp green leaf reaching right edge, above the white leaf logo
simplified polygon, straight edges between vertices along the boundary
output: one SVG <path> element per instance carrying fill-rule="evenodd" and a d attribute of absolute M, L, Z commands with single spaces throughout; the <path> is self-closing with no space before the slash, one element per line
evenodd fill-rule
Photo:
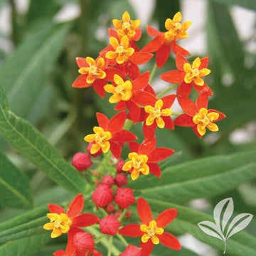
<path fill-rule="evenodd" d="M 164 169 L 161 178 L 139 177 L 132 188 L 143 197 L 172 203 L 219 195 L 256 177 L 255 151 L 213 156 Z"/>

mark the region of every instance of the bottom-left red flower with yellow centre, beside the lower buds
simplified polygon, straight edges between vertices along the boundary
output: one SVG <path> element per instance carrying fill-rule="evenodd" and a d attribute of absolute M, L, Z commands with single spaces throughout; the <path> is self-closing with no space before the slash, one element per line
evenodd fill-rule
<path fill-rule="evenodd" d="M 84 208 L 84 202 L 84 198 L 80 193 L 70 203 L 67 212 L 61 206 L 53 203 L 48 205 L 50 213 L 47 213 L 47 217 L 50 219 L 50 223 L 43 225 L 43 228 L 53 230 L 51 238 L 58 238 L 63 233 L 68 233 L 70 228 L 87 227 L 99 222 L 99 218 L 96 215 L 81 213 Z"/>

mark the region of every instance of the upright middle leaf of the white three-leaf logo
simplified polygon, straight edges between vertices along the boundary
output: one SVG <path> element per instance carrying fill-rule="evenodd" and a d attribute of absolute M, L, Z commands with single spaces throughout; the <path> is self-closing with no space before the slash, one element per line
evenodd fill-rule
<path fill-rule="evenodd" d="M 226 203 L 228 203 L 228 206 L 225 208 L 225 211 L 223 213 L 223 208 L 226 205 Z M 225 198 L 215 206 L 214 211 L 213 211 L 213 217 L 214 217 L 216 225 L 219 228 L 218 233 L 224 232 L 225 226 L 227 225 L 228 220 L 230 220 L 230 218 L 233 214 L 233 210 L 234 210 L 234 203 L 233 203 L 232 198 Z M 220 226 L 221 213 L 223 213 L 223 221 L 222 221 L 222 225 Z"/>

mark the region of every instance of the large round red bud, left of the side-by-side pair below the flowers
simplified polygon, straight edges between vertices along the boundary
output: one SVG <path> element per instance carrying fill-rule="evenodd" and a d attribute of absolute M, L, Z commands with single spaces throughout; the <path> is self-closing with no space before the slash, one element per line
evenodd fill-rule
<path fill-rule="evenodd" d="M 110 186 L 100 184 L 92 193 L 92 201 L 98 207 L 105 207 L 113 200 L 113 191 Z"/>

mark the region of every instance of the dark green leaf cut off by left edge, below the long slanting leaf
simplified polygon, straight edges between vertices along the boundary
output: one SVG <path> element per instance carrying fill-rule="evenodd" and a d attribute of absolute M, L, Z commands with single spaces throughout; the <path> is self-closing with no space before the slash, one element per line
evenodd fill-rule
<path fill-rule="evenodd" d="M 28 178 L 0 152 L 0 205 L 31 208 L 32 195 Z"/>

